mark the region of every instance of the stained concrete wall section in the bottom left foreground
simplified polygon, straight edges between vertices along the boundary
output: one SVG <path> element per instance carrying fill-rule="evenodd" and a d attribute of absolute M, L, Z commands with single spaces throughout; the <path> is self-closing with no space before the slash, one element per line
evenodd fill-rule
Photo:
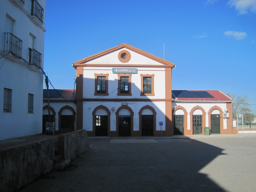
<path fill-rule="evenodd" d="M 54 141 L 36 142 L 0 151 L 0 191 L 15 191 L 53 169 Z"/>

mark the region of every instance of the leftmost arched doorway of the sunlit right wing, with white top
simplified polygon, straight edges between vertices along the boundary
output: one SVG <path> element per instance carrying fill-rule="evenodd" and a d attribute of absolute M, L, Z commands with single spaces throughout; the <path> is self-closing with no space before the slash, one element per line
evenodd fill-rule
<path fill-rule="evenodd" d="M 173 115 L 174 135 L 184 135 L 184 111 L 177 109 Z"/>

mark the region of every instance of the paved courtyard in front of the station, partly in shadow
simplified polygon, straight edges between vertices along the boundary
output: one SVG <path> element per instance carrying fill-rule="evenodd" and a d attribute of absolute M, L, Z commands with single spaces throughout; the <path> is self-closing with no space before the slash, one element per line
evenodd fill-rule
<path fill-rule="evenodd" d="M 90 139 L 66 171 L 21 192 L 255 191 L 256 137 Z"/>

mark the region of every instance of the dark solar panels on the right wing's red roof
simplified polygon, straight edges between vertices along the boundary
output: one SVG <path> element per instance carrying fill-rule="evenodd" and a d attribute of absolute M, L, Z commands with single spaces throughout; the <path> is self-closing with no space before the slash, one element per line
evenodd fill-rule
<path fill-rule="evenodd" d="M 207 91 L 173 90 L 172 93 L 177 98 L 214 98 Z"/>

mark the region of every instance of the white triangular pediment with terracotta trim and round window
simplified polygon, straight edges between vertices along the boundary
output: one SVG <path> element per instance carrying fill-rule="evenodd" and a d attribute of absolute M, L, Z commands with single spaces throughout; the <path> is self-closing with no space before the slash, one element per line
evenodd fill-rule
<path fill-rule="evenodd" d="M 74 63 L 75 66 L 86 65 L 153 65 L 174 67 L 170 61 L 156 57 L 148 52 L 142 51 L 128 44 L 110 48 L 103 52 L 94 54 L 90 57 L 78 60 Z"/>

